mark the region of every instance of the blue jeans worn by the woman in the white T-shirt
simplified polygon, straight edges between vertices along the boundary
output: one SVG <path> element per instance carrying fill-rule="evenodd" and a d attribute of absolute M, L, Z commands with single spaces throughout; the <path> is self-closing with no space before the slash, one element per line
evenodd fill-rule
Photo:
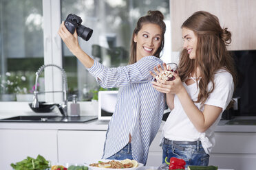
<path fill-rule="evenodd" d="M 166 141 L 166 140 L 164 140 Z M 169 140 L 168 140 L 169 141 Z M 188 144 L 175 144 L 175 141 L 167 144 L 163 142 L 162 145 L 162 163 L 164 163 L 165 158 L 167 162 L 170 161 L 171 157 L 182 158 L 186 161 L 186 167 L 188 165 L 200 165 L 208 166 L 209 164 L 209 154 L 206 154 L 204 148 L 200 141 L 195 145 Z"/>

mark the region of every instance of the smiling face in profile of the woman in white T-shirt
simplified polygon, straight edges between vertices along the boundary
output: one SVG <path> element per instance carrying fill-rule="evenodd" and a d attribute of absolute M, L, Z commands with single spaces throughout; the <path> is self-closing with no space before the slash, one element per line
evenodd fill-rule
<path fill-rule="evenodd" d="M 198 43 L 198 37 L 195 36 L 191 29 L 182 27 L 182 39 L 183 39 L 183 49 L 186 49 L 189 53 L 190 59 L 195 59 L 195 51 Z"/>

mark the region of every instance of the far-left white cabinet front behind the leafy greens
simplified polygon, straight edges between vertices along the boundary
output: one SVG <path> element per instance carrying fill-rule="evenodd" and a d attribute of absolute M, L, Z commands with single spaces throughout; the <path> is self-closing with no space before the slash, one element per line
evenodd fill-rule
<path fill-rule="evenodd" d="M 0 169 L 12 169 L 11 163 L 39 154 L 56 162 L 56 148 L 56 130 L 0 130 Z"/>

